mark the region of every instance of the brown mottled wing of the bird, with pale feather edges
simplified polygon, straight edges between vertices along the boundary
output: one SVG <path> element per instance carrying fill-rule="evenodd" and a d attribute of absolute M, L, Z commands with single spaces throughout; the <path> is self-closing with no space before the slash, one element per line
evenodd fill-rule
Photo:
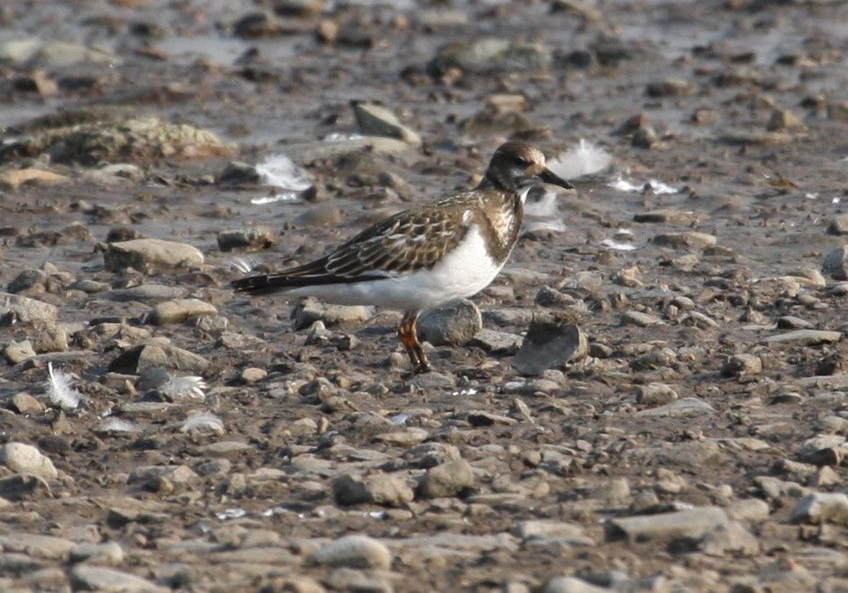
<path fill-rule="evenodd" d="M 400 212 L 369 227 L 327 256 L 274 274 L 241 278 L 239 292 L 275 292 L 315 284 L 356 283 L 429 269 L 468 231 L 471 196 L 460 194 Z"/>

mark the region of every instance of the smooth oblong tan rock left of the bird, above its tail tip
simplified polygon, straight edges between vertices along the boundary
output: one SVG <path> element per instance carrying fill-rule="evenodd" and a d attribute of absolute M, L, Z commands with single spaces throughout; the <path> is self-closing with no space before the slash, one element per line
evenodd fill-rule
<path fill-rule="evenodd" d="M 150 273 L 159 269 L 203 265 L 203 254 L 197 247 L 185 243 L 158 238 L 137 238 L 108 244 L 104 251 L 104 264 L 110 272 L 132 267 Z"/>

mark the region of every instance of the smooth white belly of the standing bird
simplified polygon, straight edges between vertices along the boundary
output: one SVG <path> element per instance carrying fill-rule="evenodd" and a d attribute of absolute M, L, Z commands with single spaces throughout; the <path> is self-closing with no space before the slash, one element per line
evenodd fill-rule
<path fill-rule="evenodd" d="M 486 249 L 476 226 L 465 239 L 429 270 L 395 278 L 348 284 L 311 286 L 289 291 L 345 305 L 375 305 L 395 310 L 425 310 L 480 292 L 503 267 Z"/>

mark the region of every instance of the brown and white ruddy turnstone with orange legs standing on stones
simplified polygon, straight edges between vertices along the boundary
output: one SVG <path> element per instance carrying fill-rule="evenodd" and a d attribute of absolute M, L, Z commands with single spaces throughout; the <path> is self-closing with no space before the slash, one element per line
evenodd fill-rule
<path fill-rule="evenodd" d="M 415 324 L 423 310 L 480 292 L 501 272 L 519 237 L 524 200 L 538 182 L 573 186 L 524 142 L 502 144 L 470 191 L 399 212 L 315 261 L 240 278 L 237 292 L 313 296 L 403 311 L 398 336 L 413 373 L 430 370 Z"/>

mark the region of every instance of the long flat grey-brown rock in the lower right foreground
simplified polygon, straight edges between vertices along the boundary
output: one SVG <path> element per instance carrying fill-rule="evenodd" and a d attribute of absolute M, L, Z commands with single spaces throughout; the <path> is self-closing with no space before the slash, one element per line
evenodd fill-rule
<path fill-rule="evenodd" d="M 725 511 L 717 507 L 698 507 L 674 513 L 615 517 L 604 524 L 608 542 L 627 539 L 640 542 L 655 538 L 687 537 L 700 539 L 727 522 Z"/>

